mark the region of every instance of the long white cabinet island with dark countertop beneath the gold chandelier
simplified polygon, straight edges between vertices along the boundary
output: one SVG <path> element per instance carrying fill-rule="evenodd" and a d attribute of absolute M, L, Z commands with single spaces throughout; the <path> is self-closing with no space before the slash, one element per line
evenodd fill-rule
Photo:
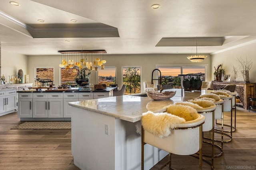
<path fill-rule="evenodd" d="M 112 97 L 114 89 L 18 91 L 18 116 L 20 121 L 70 121 L 72 108 L 69 102 Z"/>

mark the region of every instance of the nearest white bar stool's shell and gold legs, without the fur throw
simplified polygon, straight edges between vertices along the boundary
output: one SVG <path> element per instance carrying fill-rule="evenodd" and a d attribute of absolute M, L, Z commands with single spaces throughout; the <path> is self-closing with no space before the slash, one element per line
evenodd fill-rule
<path fill-rule="evenodd" d="M 187 107 L 187 106 L 182 106 Z M 192 110 L 193 108 L 191 108 Z M 159 113 L 156 113 L 159 114 Z M 169 116 L 169 113 L 160 113 Z M 205 117 L 198 113 L 191 113 L 194 120 L 183 121 L 176 127 L 169 127 L 170 135 L 166 137 L 156 136 L 144 126 L 144 114 L 142 115 L 142 160 L 141 169 L 144 170 L 144 145 L 150 144 L 166 152 L 169 152 L 169 160 L 160 169 L 169 164 L 171 170 L 171 154 L 191 155 L 199 151 L 199 169 L 202 170 L 202 124 Z M 162 121 L 160 122 L 162 123 Z"/>

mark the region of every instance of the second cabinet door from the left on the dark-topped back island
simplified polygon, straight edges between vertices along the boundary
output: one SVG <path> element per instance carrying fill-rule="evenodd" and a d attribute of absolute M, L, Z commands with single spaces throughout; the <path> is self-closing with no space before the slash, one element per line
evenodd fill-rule
<path fill-rule="evenodd" d="M 47 99 L 33 99 L 33 117 L 48 117 Z"/>

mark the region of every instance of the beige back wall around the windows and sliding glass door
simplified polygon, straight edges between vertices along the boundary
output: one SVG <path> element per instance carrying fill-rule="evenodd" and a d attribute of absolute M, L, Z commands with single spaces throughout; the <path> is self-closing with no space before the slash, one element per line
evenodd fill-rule
<path fill-rule="evenodd" d="M 104 59 L 107 61 L 105 66 L 116 66 L 116 80 L 117 84 L 122 84 L 122 66 L 140 66 L 143 83 L 144 81 L 151 81 L 152 71 L 156 68 L 156 65 L 209 65 L 208 72 L 211 70 L 210 61 L 211 57 L 208 55 L 201 63 L 192 63 L 187 59 L 185 54 L 147 54 L 147 55 L 105 55 Z M 32 77 L 34 77 L 35 67 L 54 67 L 54 84 L 59 85 L 60 82 L 60 69 L 61 63 L 60 55 L 33 55 L 28 57 L 30 83 L 33 83 Z M 211 73 L 207 76 L 210 77 Z M 90 75 L 90 83 L 96 84 L 96 71 L 92 71 Z M 142 91 L 144 87 L 142 85 Z"/>

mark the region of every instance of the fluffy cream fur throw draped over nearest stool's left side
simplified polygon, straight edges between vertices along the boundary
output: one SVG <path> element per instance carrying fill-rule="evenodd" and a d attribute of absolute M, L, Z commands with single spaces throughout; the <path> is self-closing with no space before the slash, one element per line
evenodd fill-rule
<path fill-rule="evenodd" d="M 183 118 L 168 113 L 153 113 L 148 111 L 142 114 L 141 123 L 144 130 L 159 138 L 169 136 L 171 129 L 178 124 L 185 122 Z"/>

